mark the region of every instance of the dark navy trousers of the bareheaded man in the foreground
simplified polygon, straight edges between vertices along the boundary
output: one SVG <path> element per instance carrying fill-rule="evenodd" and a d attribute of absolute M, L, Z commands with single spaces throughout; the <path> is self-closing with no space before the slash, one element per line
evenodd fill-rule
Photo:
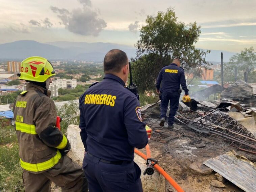
<path fill-rule="evenodd" d="M 86 153 L 83 169 L 89 192 L 143 192 L 141 170 L 133 161 L 121 165 L 108 164 Z"/>

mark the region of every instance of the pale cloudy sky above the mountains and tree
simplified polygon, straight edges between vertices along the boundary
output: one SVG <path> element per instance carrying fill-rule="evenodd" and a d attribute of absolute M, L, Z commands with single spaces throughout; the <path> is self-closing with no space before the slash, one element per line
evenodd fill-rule
<path fill-rule="evenodd" d="M 197 22 L 196 47 L 256 49 L 256 0 L 0 0 L 0 44 L 16 40 L 109 42 L 133 46 L 147 15 L 174 7 Z"/>

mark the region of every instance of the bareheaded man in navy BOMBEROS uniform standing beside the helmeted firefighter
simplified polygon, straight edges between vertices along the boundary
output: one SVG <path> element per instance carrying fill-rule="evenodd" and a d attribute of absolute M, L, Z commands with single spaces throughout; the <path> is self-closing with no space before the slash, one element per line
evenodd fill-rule
<path fill-rule="evenodd" d="M 133 161 L 134 147 L 148 143 L 139 102 L 125 88 L 126 54 L 110 50 L 104 58 L 104 80 L 88 88 L 79 100 L 83 169 L 89 192 L 143 192 L 141 170 Z"/>

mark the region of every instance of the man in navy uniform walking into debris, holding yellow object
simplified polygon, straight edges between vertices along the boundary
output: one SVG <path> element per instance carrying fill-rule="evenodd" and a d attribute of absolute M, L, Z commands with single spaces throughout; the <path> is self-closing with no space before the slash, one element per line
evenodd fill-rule
<path fill-rule="evenodd" d="M 160 84 L 162 82 L 162 87 Z M 168 118 L 168 128 L 173 128 L 174 116 L 179 108 L 180 85 L 188 95 L 188 89 L 183 68 L 180 67 L 180 60 L 174 59 L 170 65 L 164 66 L 156 81 L 156 92 L 161 94 L 161 121 L 160 126 L 164 126 L 166 119 L 167 107 L 170 101 L 170 113 Z"/>

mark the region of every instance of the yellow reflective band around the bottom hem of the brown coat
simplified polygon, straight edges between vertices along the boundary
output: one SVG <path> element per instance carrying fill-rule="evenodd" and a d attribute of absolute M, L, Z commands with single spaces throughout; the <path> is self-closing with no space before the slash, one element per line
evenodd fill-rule
<path fill-rule="evenodd" d="M 27 171 L 39 172 L 39 171 L 44 171 L 52 168 L 54 165 L 56 165 L 59 162 L 60 158 L 61 158 L 61 154 L 59 150 L 57 150 L 57 154 L 54 157 L 42 163 L 32 164 L 32 163 L 24 162 L 21 159 L 20 159 L 20 162 L 21 162 L 21 167 L 23 169 Z"/>

